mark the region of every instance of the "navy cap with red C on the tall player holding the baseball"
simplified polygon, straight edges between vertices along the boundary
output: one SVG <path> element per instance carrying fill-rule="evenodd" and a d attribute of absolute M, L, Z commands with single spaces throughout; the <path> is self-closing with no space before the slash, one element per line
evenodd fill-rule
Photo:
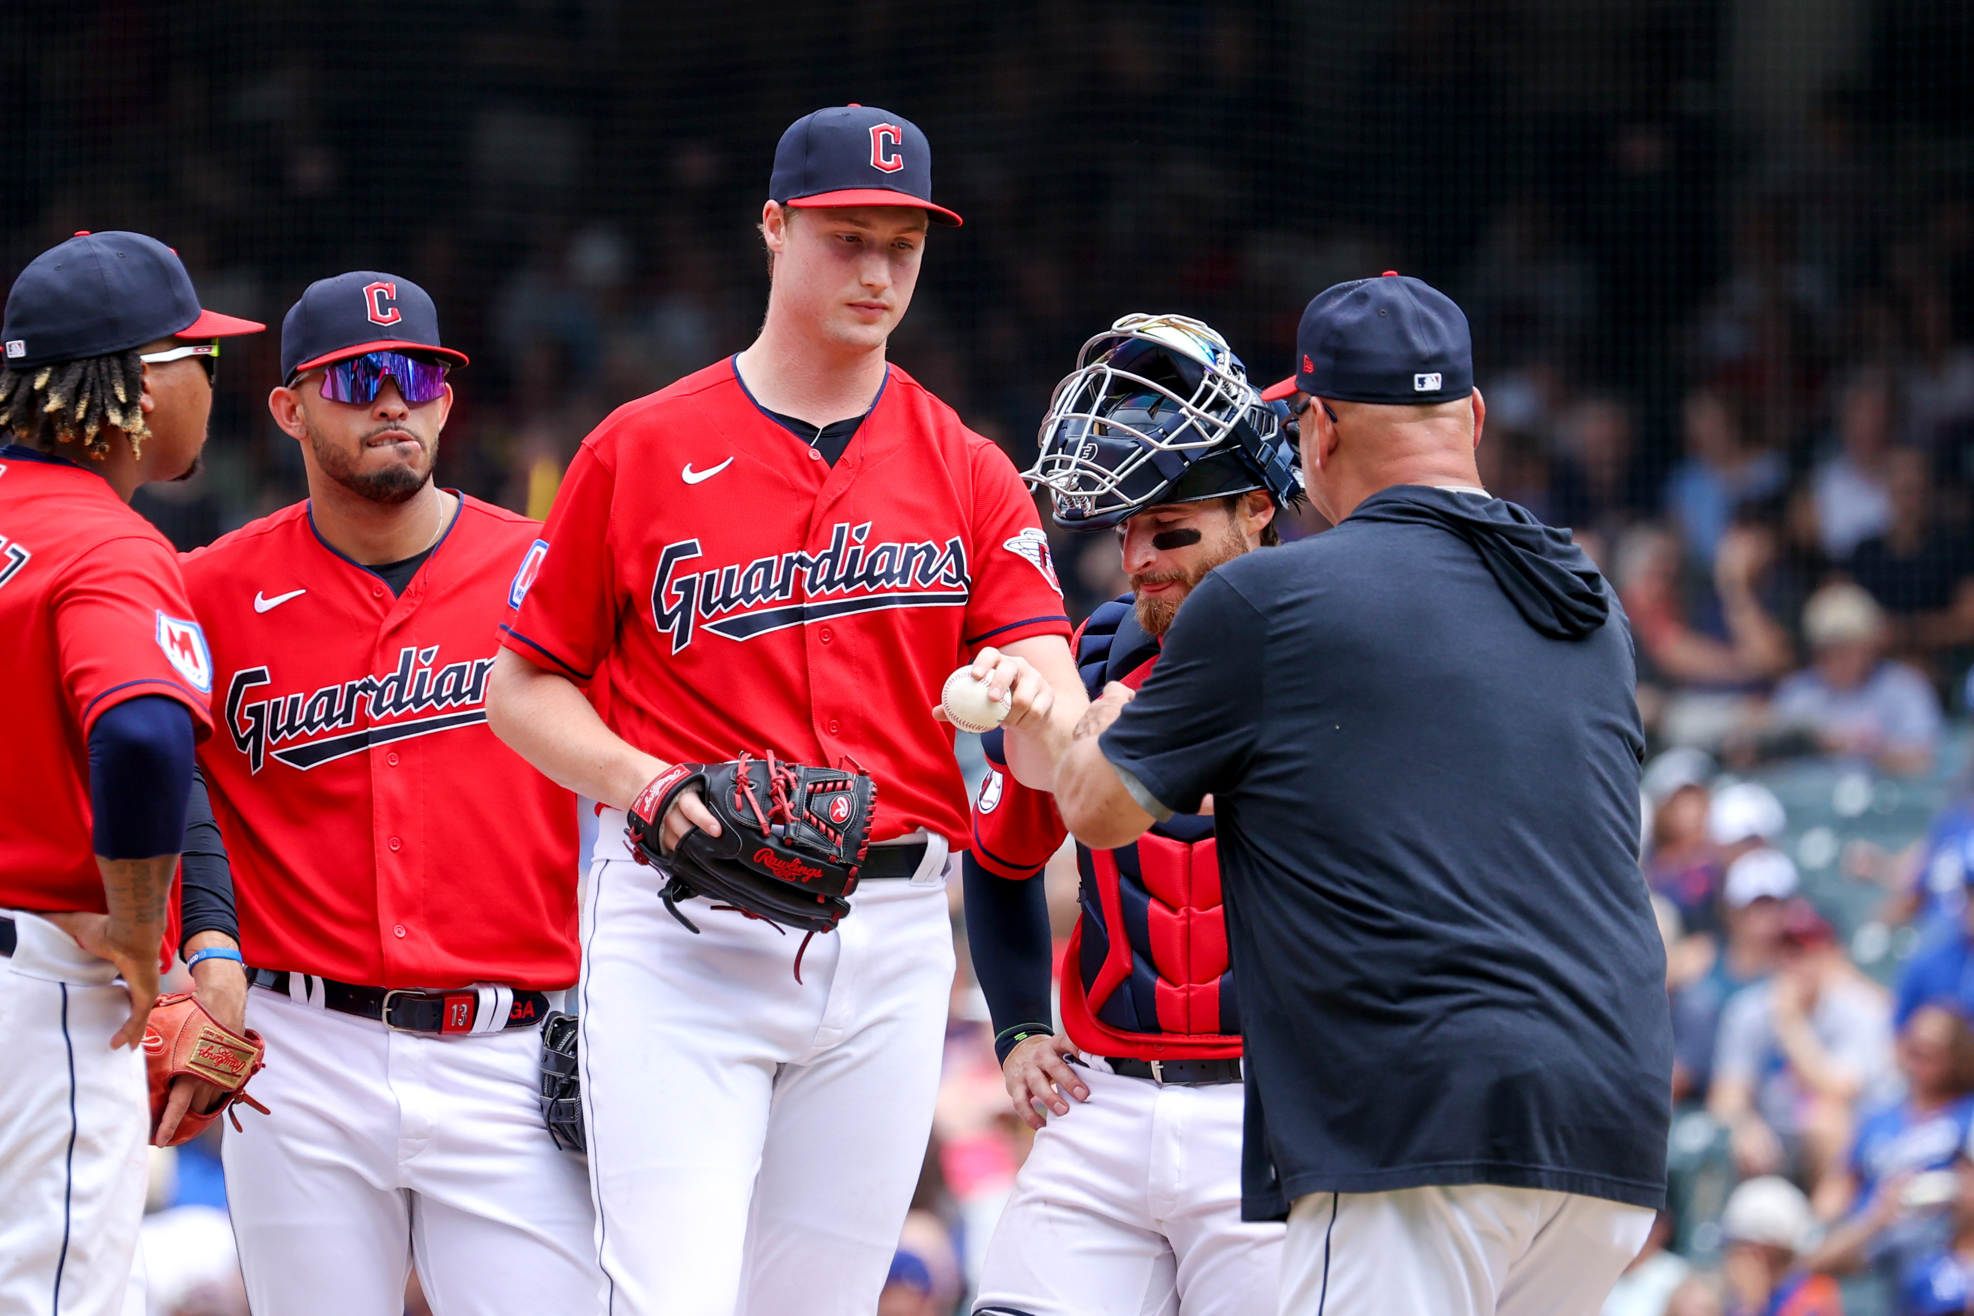
<path fill-rule="evenodd" d="M 959 215 L 932 203 L 932 146 L 910 118 L 839 105 L 788 124 L 774 148 L 768 197 L 782 205 L 916 205 L 934 223 Z"/>

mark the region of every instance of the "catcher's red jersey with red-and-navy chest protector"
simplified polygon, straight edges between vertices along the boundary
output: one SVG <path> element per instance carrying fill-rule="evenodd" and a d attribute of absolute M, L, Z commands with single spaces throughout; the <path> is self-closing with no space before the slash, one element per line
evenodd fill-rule
<path fill-rule="evenodd" d="M 1090 696 L 1111 681 L 1139 689 L 1159 641 L 1115 598 L 1076 635 Z M 1068 829 L 1054 795 L 1007 769 L 1001 734 L 981 736 L 987 777 L 973 801 L 973 862 L 1001 878 L 1034 878 Z M 1076 846 L 1082 914 L 1062 953 L 1062 1026 L 1094 1056 L 1228 1060 L 1242 1054 L 1240 1002 L 1220 904 L 1212 817 L 1180 813 L 1115 850 Z"/>

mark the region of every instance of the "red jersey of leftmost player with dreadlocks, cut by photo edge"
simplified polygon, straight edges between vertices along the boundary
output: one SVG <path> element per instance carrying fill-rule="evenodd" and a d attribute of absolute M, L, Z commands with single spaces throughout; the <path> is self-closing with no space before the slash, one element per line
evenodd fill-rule
<path fill-rule="evenodd" d="M 213 730 L 213 661 L 178 554 L 103 475 L 0 448 L 0 635 L 12 768 L 0 797 L 0 908 L 105 914 L 89 730 L 140 695 L 186 704 L 199 738 Z"/>

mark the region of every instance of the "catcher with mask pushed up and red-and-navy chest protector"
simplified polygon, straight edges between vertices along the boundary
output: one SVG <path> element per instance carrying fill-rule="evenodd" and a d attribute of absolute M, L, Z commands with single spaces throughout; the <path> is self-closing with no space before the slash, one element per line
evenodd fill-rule
<path fill-rule="evenodd" d="M 1117 527 L 1131 594 L 1076 635 L 1092 698 L 1111 681 L 1137 689 L 1192 586 L 1275 543 L 1275 509 L 1301 497 L 1275 410 L 1226 341 L 1182 316 L 1125 316 L 1084 347 L 1056 387 L 1028 479 L 1050 489 L 1060 525 Z M 987 1245 L 973 1312 L 1269 1310 L 1283 1227 L 1240 1217 L 1240 1006 L 1214 817 L 1175 815 L 1115 850 L 1078 846 L 1082 917 L 1062 959 L 1058 1038 L 1046 1022 L 1048 910 L 1032 878 L 1068 833 L 1048 795 L 1009 779 L 1001 734 L 981 740 L 967 947 L 1015 1111 L 1040 1133 Z"/>

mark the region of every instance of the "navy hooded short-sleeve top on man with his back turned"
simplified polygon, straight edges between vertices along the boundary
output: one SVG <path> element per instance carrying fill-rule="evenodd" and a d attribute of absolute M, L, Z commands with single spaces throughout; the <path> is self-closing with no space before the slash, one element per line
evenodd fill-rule
<path fill-rule="evenodd" d="M 1248 1219 L 1423 1184 L 1664 1206 L 1631 629 L 1567 531 L 1376 493 L 1202 580 L 1100 744 L 1153 813 L 1214 797 Z"/>

